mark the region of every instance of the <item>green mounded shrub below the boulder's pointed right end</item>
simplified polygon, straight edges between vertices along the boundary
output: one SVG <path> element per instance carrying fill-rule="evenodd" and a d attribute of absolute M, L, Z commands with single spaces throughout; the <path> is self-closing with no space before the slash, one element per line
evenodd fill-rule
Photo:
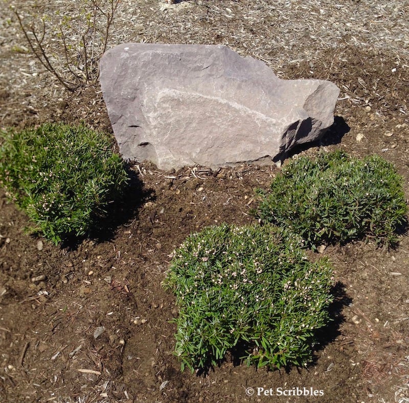
<path fill-rule="evenodd" d="M 395 231 L 406 223 L 402 178 L 376 155 L 358 159 L 337 151 L 297 158 L 260 195 L 261 221 L 288 228 L 312 248 L 364 238 L 395 246 Z"/>

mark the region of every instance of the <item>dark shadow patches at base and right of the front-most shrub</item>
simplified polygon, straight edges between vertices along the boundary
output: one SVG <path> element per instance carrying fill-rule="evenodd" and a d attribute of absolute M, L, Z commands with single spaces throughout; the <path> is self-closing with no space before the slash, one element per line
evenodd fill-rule
<path fill-rule="evenodd" d="M 345 286 L 341 282 L 335 283 L 332 287 L 330 293 L 333 295 L 334 300 L 329 306 L 330 322 L 327 326 L 317 330 L 315 332 L 315 344 L 312 348 L 313 353 L 323 350 L 328 344 L 335 341 L 335 339 L 340 335 L 339 327 L 345 321 L 345 316 L 342 311 L 344 307 L 349 306 L 352 303 L 352 299 L 347 295 L 345 291 Z M 247 342 L 239 342 L 234 348 L 230 349 L 226 354 L 225 358 L 220 361 L 219 366 L 223 362 L 231 362 L 235 367 L 243 365 L 243 358 L 248 356 L 249 351 L 252 351 L 255 345 Z M 318 356 L 313 354 L 312 362 L 309 367 L 314 366 Z M 291 369 L 294 368 L 293 365 L 288 365 L 285 368 L 286 373 L 289 373 Z M 197 370 L 197 376 L 206 376 L 209 372 L 213 371 L 214 367 L 212 365 L 207 365 L 205 368 Z M 279 369 L 281 371 L 281 369 Z"/>

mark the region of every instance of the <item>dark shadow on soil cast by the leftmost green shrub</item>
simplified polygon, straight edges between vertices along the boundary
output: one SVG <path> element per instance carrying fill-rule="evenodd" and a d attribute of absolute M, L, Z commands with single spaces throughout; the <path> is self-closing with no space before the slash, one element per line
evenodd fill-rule
<path fill-rule="evenodd" d="M 138 219 L 138 210 L 143 203 L 155 199 L 154 190 L 144 189 L 139 175 L 130 169 L 130 165 L 126 169 L 129 186 L 124 195 L 111 203 L 103 216 L 96 218 L 96 226 L 88 234 L 83 237 L 66 237 L 61 243 L 61 248 L 75 250 L 87 238 L 97 242 L 112 240 L 119 226 Z"/>

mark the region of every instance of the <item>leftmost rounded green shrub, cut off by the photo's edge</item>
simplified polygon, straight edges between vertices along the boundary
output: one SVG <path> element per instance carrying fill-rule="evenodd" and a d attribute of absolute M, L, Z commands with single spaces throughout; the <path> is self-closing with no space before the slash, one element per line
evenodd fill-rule
<path fill-rule="evenodd" d="M 109 137 L 83 125 L 2 131 L 0 144 L 0 185 L 55 243 L 92 230 L 128 181 Z"/>

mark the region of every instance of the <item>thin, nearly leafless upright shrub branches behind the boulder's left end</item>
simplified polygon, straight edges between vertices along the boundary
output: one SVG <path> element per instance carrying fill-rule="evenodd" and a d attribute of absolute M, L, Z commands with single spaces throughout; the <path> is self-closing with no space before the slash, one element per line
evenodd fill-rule
<path fill-rule="evenodd" d="M 13 9 L 13 13 L 31 53 L 66 90 L 75 91 L 97 81 L 96 58 L 106 51 L 119 3 L 120 0 L 80 0 L 78 15 L 61 15 L 58 30 L 47 26 L 47 15 L 29 14 L 26 18 L 30 21 L 26 23 L 19 10 Z M 56 48 L 56 44 L 60 46 Z M 57 60 L 53 61 L 53 57 Z"/>

